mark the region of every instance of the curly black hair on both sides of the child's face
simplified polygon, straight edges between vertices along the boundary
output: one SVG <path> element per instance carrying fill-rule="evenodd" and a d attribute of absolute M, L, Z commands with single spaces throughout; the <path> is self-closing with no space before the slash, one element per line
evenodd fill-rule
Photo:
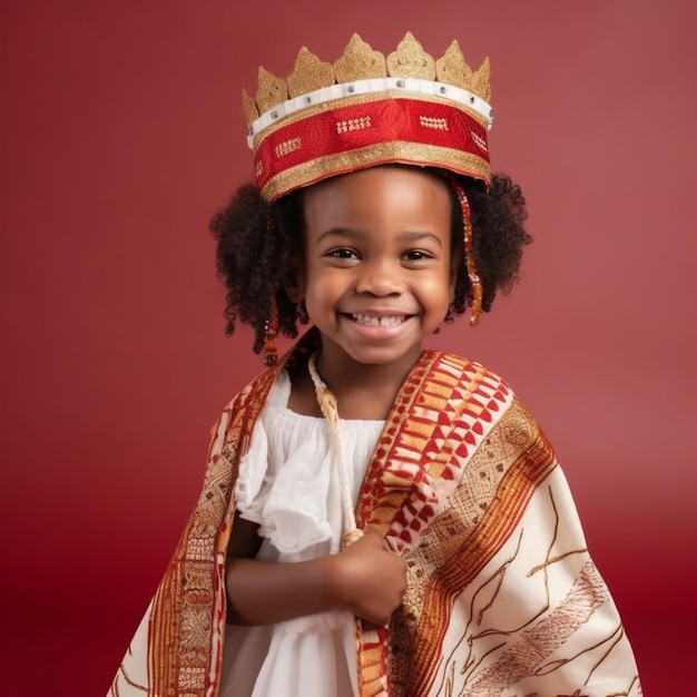
<path fill-rule="evenodd" d="M 482 310 L 489 312 L 497 293 L 509 293 L 519 279 L 523 247 L 532 242 L 523 226 L 528 217 L 526 200 L 520 187 L 505 175 L 494 175 L 489 188 L 470 177 L 455 178 L 470 202 L 474 261 L 483 287 Z M 449 189 L 452 253 L 462 257 L 462 216 L 457 194 L 452 186 Z M 297 189 L 268 204 L 256 186 L 244 185 L 210 220 L 217 243 L 217 274 L 227 287 L 225 333 L 234 333 L 237 320 L 254 327 L 256 353 L 264 345 L 273 296 L 282 334 L 295 337 L 298 324 L 308 322 L 304 305 L 292 302 L 283 287 L 288 268 L 303 249 L 303 196 L 304 189 Z M 462 315 L 471 302 L 467 268 L 460 264 L 454 301 L 445 321 Z"/>

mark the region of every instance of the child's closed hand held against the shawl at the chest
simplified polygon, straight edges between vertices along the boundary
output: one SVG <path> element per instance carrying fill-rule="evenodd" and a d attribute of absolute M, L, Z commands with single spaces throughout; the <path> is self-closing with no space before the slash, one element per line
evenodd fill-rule
<path fill-rule="evenodd" d="M 386 625 L 406 590 L 406 562 L 367 532 L 331 558 L 338 605 L 374 625 Z"/>

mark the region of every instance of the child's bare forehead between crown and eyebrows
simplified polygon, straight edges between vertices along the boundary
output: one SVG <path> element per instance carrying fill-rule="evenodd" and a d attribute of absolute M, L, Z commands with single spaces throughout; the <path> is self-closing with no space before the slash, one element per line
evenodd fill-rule
<path fill-rule="evenodd" d="M 381 166 L 333 177 L 306 189 L 308 233 L 333 227 L 366 230 L 450 230 L 449 187 L 438 175 L 404 166 Z"/>

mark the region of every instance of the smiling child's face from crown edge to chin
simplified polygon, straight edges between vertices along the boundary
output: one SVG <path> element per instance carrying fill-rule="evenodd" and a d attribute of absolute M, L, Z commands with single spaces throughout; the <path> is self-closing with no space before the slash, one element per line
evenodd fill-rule
<path fill-rule="evenodd" d="M 451 200 L 445 181 L 408 167 L 374 167 L 311 187 L 304 300 L 334 360 L 413 363 L 453 298 Z M 325 356 L 328 357 L 328 356 Z"/>

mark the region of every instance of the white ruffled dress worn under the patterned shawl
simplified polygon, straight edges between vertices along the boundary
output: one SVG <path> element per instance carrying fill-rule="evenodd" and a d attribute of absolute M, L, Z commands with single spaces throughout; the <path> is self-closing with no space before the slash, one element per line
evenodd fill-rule
<path fill-rule="evenodd" d="M 242 518 L 264 538 L 257 559 L 294 562 L 336 553 L 343 530 L 333 439 L 325 419 L 287 409 L 283 372 L 255 426 L 236 484 Z M 384 421 L 344 421 L 353 502 Z M 220 697 L 354 697 L 354 617 L 345 610 L 225 632 Z"/>

